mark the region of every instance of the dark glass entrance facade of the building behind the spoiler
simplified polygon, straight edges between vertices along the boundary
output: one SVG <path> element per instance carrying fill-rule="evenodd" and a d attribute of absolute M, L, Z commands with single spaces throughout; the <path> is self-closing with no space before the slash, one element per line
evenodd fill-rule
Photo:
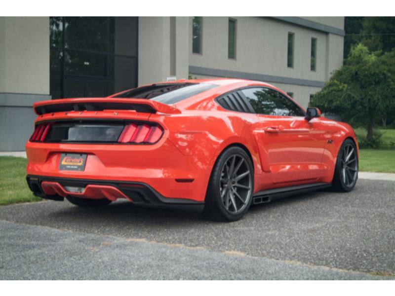
<path fill-rule="evenodd" d="M 50 17 L 53 99 L 104 97 L 137 86 L 137 17 Z"/>

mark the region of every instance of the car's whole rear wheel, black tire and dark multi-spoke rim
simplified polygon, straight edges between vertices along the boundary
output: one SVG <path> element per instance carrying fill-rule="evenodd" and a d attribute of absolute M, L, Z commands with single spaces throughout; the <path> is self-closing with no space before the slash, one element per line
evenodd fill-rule
<path fill-rule="evenodd" d="M 227 176 L 224 175 L 225 172 Z M 246 175 L 239 179 L 244 174 Z M 253 188 L 254 169 L 248 154 L 239 147 L 227 148 L 218 156 L 211 172 L 204 213 L 217 221 L 239 220 L 251 205 Z M 225 193 L 223 197 L 221 192 Z"/>

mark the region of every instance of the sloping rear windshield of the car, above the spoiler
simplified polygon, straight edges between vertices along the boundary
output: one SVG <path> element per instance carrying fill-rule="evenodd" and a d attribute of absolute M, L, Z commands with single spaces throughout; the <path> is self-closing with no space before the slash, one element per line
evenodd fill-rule
<path fill-rule="evenodd" d="M 175 104 L 217 86 L 210 83 L 153 84 L 137 87 L 121 93 L 115 98 L 137 98 L 153 100 L 163 104 Z"/>

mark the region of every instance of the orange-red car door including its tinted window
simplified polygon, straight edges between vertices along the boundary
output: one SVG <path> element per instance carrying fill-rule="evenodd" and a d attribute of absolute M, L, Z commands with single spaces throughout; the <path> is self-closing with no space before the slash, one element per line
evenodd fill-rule
<path fill-rule="evenodd" d="M 305 119 L 292 100 L 271 88 L 251 87 L 241 90 L 259 117 L 254 136 L 264 171 L 273 183 L 312 183 L 325 176 L 321 163 L 325 131 L 316 120 Z"/>

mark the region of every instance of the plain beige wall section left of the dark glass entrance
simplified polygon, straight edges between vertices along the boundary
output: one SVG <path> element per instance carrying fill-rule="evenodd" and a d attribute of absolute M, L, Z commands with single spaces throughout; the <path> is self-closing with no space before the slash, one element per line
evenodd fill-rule
<path fill-rule="evenodd" d="M 48 17 L 0 17 L 0 93 L 49 94 Z"/>

